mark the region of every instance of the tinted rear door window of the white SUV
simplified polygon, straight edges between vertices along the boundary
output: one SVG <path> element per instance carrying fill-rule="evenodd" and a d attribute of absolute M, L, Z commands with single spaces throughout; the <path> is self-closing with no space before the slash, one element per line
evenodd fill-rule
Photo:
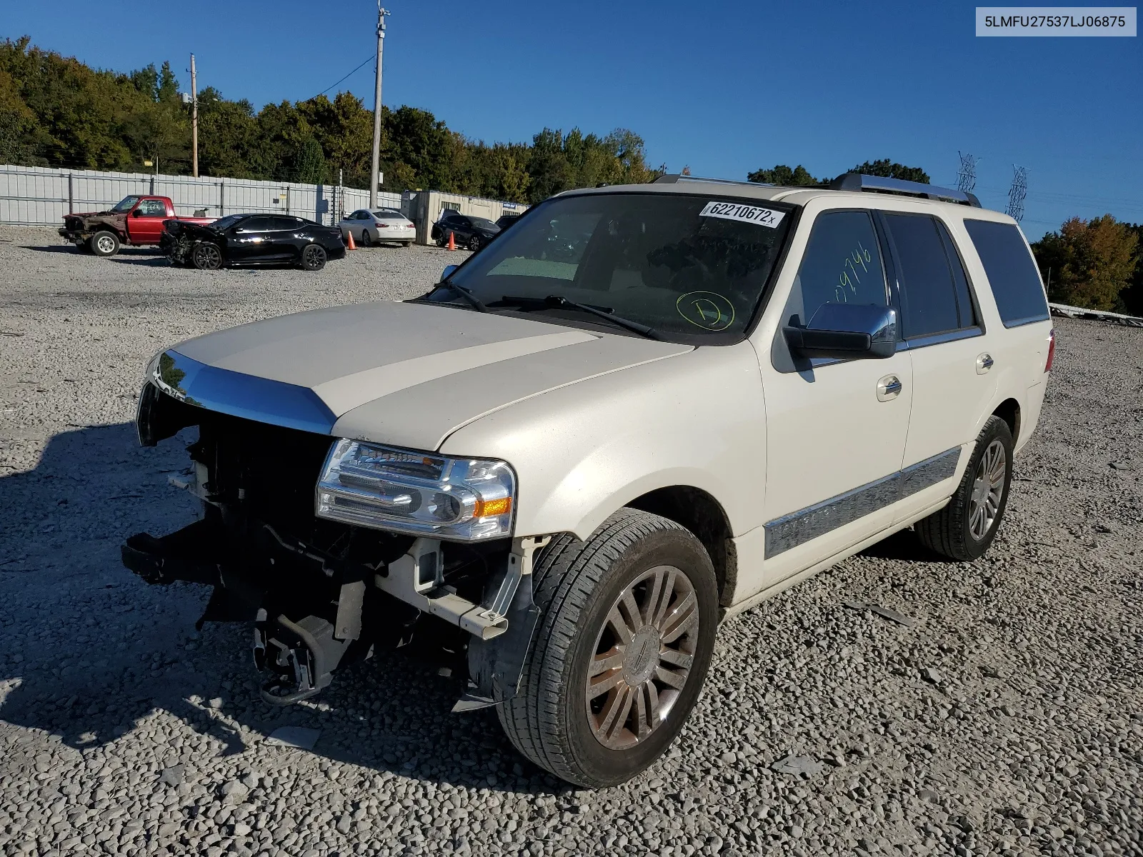
<path fill-rule="evenodd" d="M 898 214 L 886 214 L 885 219 L 901 265 L 905 338 L 956 330 L 957 293 L 936 221 Z"/>

